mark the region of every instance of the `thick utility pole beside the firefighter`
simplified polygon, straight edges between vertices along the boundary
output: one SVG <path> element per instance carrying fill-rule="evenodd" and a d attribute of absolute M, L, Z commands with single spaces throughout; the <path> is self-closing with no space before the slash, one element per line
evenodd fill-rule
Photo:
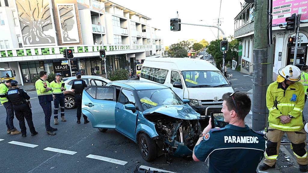
<path fill-rule="evenodd" d="M 264 130 L 266 115 L 266 90 L 273 78 L 273 62 L 268 55 L 268 23 L 270 0 L 254 1 L 254 46 L 253 46 L 253 109 L 252 128 L 255 131 Z M 272 7 L 270 7 L 272 8 Z M 271 38 L 270 38 L 271 39 Z M 271 51 L 269 51 L 271 52 Z"/>

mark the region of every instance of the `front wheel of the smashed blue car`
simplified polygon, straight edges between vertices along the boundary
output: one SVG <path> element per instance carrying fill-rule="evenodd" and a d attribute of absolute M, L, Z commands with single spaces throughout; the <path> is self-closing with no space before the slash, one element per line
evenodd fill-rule
<path fill-rule="evenodd" d="M 145 161 L 152 161 L 156 158 L 156 146 L 153 139 L 147 134 L 142 133 L 139 136 L 138 143 L 141 156 Z"/>

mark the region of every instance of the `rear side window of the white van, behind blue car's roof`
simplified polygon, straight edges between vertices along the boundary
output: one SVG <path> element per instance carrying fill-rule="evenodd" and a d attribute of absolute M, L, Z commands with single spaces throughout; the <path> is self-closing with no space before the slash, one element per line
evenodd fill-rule
<path fill-rule="evenodd" d="M 168 70 L 143 66 L 141 69 L 140 77 L 154 82 L 164 83 L 167 74 Z"/>

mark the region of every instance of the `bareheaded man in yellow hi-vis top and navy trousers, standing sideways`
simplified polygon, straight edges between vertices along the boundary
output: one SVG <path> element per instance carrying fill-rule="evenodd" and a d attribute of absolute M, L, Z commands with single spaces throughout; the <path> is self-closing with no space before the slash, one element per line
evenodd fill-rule
<path fill-rule="evenodd" d="M 39 104 L 43 108 L 45 114 L 45 128 L 48 135 L 55 135 L 54 131 L 58 130 L 57 128 L 53 128 L 50 126 L 50 118 L 51 118 L 51 101 L 52 98 L 52 88 L 47 81 L 47 71 L 39 72 L 39 80 L 35 82 L 36 93 L 39 98 Z"/>

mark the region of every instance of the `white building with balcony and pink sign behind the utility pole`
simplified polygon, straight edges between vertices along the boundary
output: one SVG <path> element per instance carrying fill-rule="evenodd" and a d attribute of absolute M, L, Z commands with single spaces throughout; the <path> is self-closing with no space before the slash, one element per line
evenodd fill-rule
<path fill-rule="evenodd" d="M 301 3 L 302 2 L 302 3 Z M 301 46 L 297 51 L 296 66 L 301 68 L 307 64 L 307 44 L 308 44 L 308 15 L 307 1 L 294 0 L 292 2 L 275 1 L 273 2 L 273 20 L 272 20 L 272 42 L 273 42 L 273 80 L 278 75 L 278 70 L 286 65 L 293 65 L 294 46 L 288 46 L 288 38 L 295 36 L 290 34 L 285 28 L 280 28 L 279 24 L 286 26 L 285 18 L 290 17 L 293 13 L 298 14 L 302 9 L 300 33 L 302 36 Z M 241 72 L 246 74 L 253 73 L 253 34 L 254 34 L 254 3 L 242 4 L 242 10 L 234 18 L 234 38 L 240 38 L 239 46 L 239 63 Z"/>

